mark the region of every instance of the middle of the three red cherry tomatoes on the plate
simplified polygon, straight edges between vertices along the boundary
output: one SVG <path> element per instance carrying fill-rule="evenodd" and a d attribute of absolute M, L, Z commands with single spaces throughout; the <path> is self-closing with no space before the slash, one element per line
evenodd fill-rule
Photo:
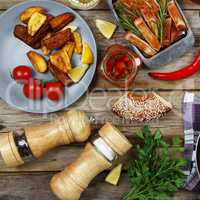
<path fill-rule="evenodd" d="M 41 81 L 37 79 L 30 79 L 23 87 L 23 93 L 26 98 L 31 100 L 42 99 L 44 87 Z"/>

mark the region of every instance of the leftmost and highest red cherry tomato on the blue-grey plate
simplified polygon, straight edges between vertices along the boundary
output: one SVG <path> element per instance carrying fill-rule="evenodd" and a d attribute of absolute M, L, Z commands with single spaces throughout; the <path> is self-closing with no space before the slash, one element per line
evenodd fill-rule
<path fill-rule="evenodd" d="M 32 76 L 32 69 L 27 66 L 18 66 L 12 72 L 12 77 L 17 83 L 27 83 Z"/>

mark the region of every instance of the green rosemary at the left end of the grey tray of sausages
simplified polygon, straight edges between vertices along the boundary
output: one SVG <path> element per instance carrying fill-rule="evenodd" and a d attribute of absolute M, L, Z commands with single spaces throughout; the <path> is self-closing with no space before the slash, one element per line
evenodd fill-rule
<path fill-rule="evenodd" d="M 141 36 L 140 31 L 134 25 L 133 19 L 138 17 L 137 11 L 131 11 L 126 6 L 122 5 L 120 2 L 114 4 L 115 10 L 118 14 L 120 23 L 125 30 L 128 30 L 137 36 Z"/>

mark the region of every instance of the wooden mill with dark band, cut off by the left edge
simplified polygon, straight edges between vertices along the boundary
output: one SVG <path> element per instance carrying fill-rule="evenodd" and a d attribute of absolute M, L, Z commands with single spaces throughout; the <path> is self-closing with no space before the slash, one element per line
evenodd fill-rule
<path fill-rule="evenodd" d="M 50 123 L 0 135 L 0 152 L 7 166 L 16 167 L 60 145 L 84 142 L 90 134 L 89 118 L 71 110 Z"/>

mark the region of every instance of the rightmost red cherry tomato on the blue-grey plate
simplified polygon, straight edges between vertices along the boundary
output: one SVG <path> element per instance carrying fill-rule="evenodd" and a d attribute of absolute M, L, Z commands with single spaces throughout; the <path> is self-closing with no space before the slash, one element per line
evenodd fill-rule
<path fill-rule="evenodd" d="M 64 96 L 64 86 L 60 82 L 46 84 L 46 95 L 52 101 L 59 101 Z"/>

